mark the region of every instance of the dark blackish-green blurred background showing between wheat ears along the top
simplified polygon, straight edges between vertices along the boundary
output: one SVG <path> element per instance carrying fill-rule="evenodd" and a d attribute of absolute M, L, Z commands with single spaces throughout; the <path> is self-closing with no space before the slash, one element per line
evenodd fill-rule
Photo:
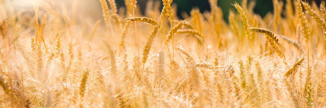
<path fill-rule="evenodd" d="M 146 2 L 148 0 L 137 0 L 137 4 L 140 5 L 142 13 L 144 13 L 144 10 L 146 8 Z M 228 20 L 228 15 L 229 15 L 229 10 L 233 9 L 236 11 L 234 6 L 231 4 L 234 4 L 235 2 L 241 3 L 242 0 L 218 0 L 217 5 L 222 8 L 223 10 L 223 17 L 227 21 Z M 256 6 L 254 8 L 254 12 L 259 14 L 260 16 L 265 16 L 267 12 L 271 11 L 273 12 L 273 2 L 272 0 L 255 0 L 256 1 Z M 286 0 L 280 0 L 283 1 L 284 4 L 286 3 Z M 293 1 L 293 0 L 291 0 Z M 296 1 L 296 0 L 295 0 Z M 317 5 L 321 3 L 321 0 L 306 0 L 308 3 L 311 3 L 311 1 L 315 1 Z M 124 0 L 116 0 L 117 7 L 125 6 L 125 1 Z M 250 0 L 248 0 L 248 3 Z M 204 12 L 205 10 L 210 11 L 210 5 L 208 3 L 208 0 L 173 0 L 172 4 L 177 4 L 177 9 L 178 9 L 178 17 L 181 17 L 181 12 L 187 12 L 189 14 L 190 10 L 194 7 L 198 7 L 201 12 Z M 163 4 L 163 2 L 162 2 Z M 163 5 L 161 5 L 161 8 Z M 139 7 L 138 7 L 139 8 Z"/>

